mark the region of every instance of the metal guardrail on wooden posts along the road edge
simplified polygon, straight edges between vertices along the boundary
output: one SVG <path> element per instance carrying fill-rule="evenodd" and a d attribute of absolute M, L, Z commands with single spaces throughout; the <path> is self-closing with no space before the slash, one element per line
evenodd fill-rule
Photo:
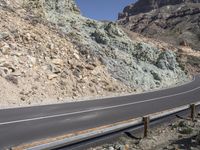
<path fill-rule="evenodd" d="M 188 110 L 188 109 L 191 110 L 191 119 L 194 120 L 196 106 L 200 106 L 200 102 L 177 107 L 177 108 L 166 110 L 166 111 L 159 112 L 159 113 L 150 114 L 148 116 L 136 118 L 136 119 L 130 120 L 125 123 L 119 123 L 119 124 L 116 124 L 116 125 L 113 125 L 113 126 L 110 126 L 107 128 L 101 128 L 101 129 L 97 129 L 97 130 L 94 130 L 91 132 L 68 137 L 66 139 L 30 147 L 30 148 L 27 148 L 27 150 L 52 150 L 52 149 L 56 149 L 56 148 L 67 147 L 69 145 L 72 145 L 72 144 L 74 145 L 74 144 L 80 143 L 82 141 L 90 140 L 93 138 L 98 138 L 103 135 L 111 135 L 116 132 L 125 132 L 127 130 L 133 129 L 133 128 L 141 126 L 141 125 L 144 126 L 144 137 L 146 137 L 148 135 L 149 124 L 152 121 L 159 120 L 161 118 L 165 118 L 169 115 L 173 115 L 173 114 L 176 114 L 176 113 Z"/>

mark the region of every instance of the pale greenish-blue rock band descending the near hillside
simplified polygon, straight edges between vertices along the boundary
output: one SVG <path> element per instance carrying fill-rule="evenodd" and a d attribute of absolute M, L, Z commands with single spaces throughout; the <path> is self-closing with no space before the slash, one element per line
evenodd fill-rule
<path fill-rule="evenodd" d="M 26 4 L 64 33 L 88 62 L 98 58 L 115 79 L 129 86 L 149 90 L 188 80 L 174 52 L 131 40 L 116 23 L 83 17 L 73 0 L 26 0 Z"/>

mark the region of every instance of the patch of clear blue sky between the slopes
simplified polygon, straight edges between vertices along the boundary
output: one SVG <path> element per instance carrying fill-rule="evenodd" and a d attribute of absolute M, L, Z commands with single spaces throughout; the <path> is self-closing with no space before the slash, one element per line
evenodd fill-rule
<path fill-rule="evenodd" d="M 116 20 L 118 13 L 135 0 L 75 0 L 84 16 L 96 20 Z"/>

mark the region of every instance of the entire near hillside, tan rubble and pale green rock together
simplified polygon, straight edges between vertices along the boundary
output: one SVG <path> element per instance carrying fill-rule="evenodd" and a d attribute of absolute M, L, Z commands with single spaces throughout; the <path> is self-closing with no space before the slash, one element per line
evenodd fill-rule
<path fill-rule="evenodd" d="M 188 80 L 170 49 L 81 16 L 73 0 L 0 0 L 1 106 L 66 102 Z"/>

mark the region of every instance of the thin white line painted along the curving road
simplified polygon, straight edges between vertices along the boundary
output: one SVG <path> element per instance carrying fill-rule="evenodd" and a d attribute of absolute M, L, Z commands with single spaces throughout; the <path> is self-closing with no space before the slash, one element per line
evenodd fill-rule
<path fill-rule="evenodd" d="M 145 102 L 152 102 L 152 101 L 162 100 L 164 98 L 169 98 L 169 97 L 174 97 L 174 96 L 178 96 L 178 95 L 187 94 L 187 93 L 196 91 L 198 89 L 200 89 L 200 87 L 194 88 L 194 89 L 189 90 L 189 91 L 177 93 L 177 94 L 167 95 L 167 96 L 163 96 L 163 97 L 157 97 L 157 98 L 143 100 L 143 101 L 138 101 L 138 102 L 126 103 L 126 104 L 121 104 L 121 105 L 108 106 L 108 107 L 102 107 L 102 108 L 90 109 L 90 110 L 83 110 L 83 111 L 77 111 L 77 112 L 71 112 L 71 113 L 64 113 L 64 114 L 58 114 L 58 115 L 52 115 L 52 116 L 44 116 L 44 117 L 37 117 L 37 118 L 30 118 L 30 119 L 22 119 L 22 120 L 16 120 L 16 121 L 2 122 L 2 123 L 0 123 L 0 126 L 1 125 L 14 124 L 14 123 L 21 123 L 21 122 L 28 122 L 28 121 L 35 121 L 35 120 L 42 120 L 42 119 L 50 119 L 50 118 L 56 118 L 56 117 L 63 117 L 63 116 L 69 116 L 69 115 L 77 115 L 77 114 L 94 112 L 94 111 L 99 111 L 99 110 L 106 110 L 106 109 L 111 109 L 111 108 L 119 108 L 119 107 L 124 107 L 124 106 L 141 104 L 141 103 L 145 103 Z"/>

